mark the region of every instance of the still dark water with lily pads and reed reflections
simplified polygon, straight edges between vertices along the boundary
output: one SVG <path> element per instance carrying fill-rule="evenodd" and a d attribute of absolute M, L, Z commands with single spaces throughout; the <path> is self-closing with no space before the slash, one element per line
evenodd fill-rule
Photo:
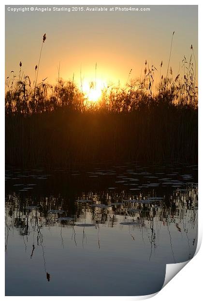
<path fill-rule="evenodd" d="M 7 296 L 135 296 L 193 257 L 197 166 L 6 167 Z"/>

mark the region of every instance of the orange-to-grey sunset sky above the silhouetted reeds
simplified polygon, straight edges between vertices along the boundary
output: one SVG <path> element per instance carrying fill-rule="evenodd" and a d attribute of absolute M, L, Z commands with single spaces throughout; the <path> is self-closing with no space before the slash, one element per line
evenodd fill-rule
<path fill-rule="evenodd" d="M 9 11 L 11 8 L 28 7 L 27 12 Z M 51 8 L 51 11 L 30 11 L 30 8 Z M 55 6 L 58 8 L 72 6 Z M 162 73 L 166 75 L 172 34 L 173 47 L 170 66 L 177 75 L 184 55 L 189 60 L 193 45 L 198 58 L 198 6 L 197 5 L 148 5 L 150 11 L 53 11 L 47 5 L 5 6 L 5 75 L 14 70 L 22 71 L 34 80 L 43 34 L 43 44 L 38 80 L 55 84 L 59 76 L 73 79 L 80 85 L 94 81 L 125 84 L 131 78 L 140 78 L 145 60 L 157 69 L 163 61 Z M 95 7 L 88 5 L 88 7 Z M 98 6 L 99 7 L 99 6 Z M 124 8 L 125 6 L 121 6 Z M 129 5 L 126 7 L 130 7 Z M 97 70 L 95 75 L 95 65 Z M 157 72 L 156 79 L 160 77 Z"/>

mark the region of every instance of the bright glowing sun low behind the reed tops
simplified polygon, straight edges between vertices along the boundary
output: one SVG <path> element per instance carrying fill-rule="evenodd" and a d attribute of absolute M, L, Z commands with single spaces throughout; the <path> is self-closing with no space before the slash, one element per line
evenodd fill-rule
<path fill-rule="evenodd" d="M 106 82 L 96 79 L 94 81 L 84 81 L 82 84 L 82 92 L 87 100 L 96 102 L 102 97 L 102 91 L 107 86 Z"/>

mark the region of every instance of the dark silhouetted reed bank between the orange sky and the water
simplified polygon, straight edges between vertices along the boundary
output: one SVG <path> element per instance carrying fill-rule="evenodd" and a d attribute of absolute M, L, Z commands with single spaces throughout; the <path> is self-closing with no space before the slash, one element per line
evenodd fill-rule
<path fill-rule="evenodd" d="M 73 80 L 38 83 L 22 71 L 11 71 L 5 92 L 5 161 L 19 167 L 71 167 L 123 160 L 187 160 L 197 162 L 198 94 L 196 60 L 173 74 L 145 61 L 144 74 L 124 87 L 109 86 L 97 102 L 88 101 Z M 193 61 L 195 62 L 193 64 Z M 183 76 L 180 74 L 183 73 Z M 154 84 L 154 78 L 160 83 Z M 96 84 L 96 82 L 95 82 Z M 94 89 L 94 83 L 90 88 Z"/>

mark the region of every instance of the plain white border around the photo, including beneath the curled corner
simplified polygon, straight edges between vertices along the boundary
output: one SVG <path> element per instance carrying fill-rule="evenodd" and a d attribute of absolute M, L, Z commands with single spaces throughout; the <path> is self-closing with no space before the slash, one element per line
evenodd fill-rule
<path fill-rule="evenodd" d="M 29 5 L 29 4 L 36 4 L 36 5 L 53 5 L 53 4 L 63 4 L 63 5 L 68 5 L 68 4 L 88 4 L 88 5 L 199 5 L 199 54 L 203 53 L 203 46 L 202 46 L 202 36 L 203 36 L 203 4 L 201 4 L 198 1 L 133 1 L 133 0 L 128 0 L 127 2 L 124 1 L 108 1 L 108 0 L 102 0 L 102 1 L 69 1 L 69 3 L 64 3 L 63 1 L 58 0 L 56 1 L 47 1 L 44 0 L 42 1 L 26 1 L 26 0 L 21 0 L 20 3 L 17 3 L 16 1 L 9 1 L 6 3 L 6 1 L 2 1 L 0 3 L 0 34 L 1 34 L 1 43 L 3 44 L 4 39 L 4 5 Z M 188 20 L 189 22 L 189 20 Z M 0 66 L 4 66 L 4 47 L 0 48 Z M 2 213 L 2 218 L 0 219 L 0 229 L 1 229 L 1 254 L 0 258 L 2 260 L 1 264 L 1 274 L 0 274 L 0 295 L 3 298 L 6 299 L 13 299 L 16 298 L 18 300 L 26 299 L 26 300 L 31 300 L 36 297 L 4 297 L 4 81 L 2 80 L 4 78 L 4 68 L 1 68 L 1 81 L 0 81 L 0 141 L 1 141 L 1 147 L 0 147 L 0 205 L 1 207 L 1 213 Z M 199 83 L 202 83 L 202 57 L 199 55 Z M 202 99 L 203 99 L 203 92 L 202 92 L 202 87 L 201 84 L 199 86 L 199 170 L 202 169 L 202 156 L 201 154 L 203 153 L 203 147 L 202 147 L 202 139 L 200 137 L 203 129 L 203 118 L 202 118 Z M 202 176 L 201 172 L 199 172 L 199 193 L 200 193 L 200 204 L 199 204 L 199 236 L 198 236 L 198 249 L 200 248 L 200 244 L 202 241 L 202 233 L 203 233 L 203 222 L 202 222 L 202 208 L 203 206 L 201 205 L 201 201 L 203 200 L 202 196 Z M 201 264 L 203 264 L 203 248 L 200 249 L 200 251 L 197 253 L 197 255 L 187 264 L 183 270 L 181 270 L 175 277 L 170 281 L 170 284 L 167 284 L 155 297 L 153 297 L 155 301 L 171 301 L 171 299 L 174 300 L 200 300 L 202 299 L 202 269 L 201 269 Z M 150 296 L 148 296 L 150 297 Z M 56 297 L 37 297 L 38 299 L 42 300 L 50 300 L 50 299 L 56 299 Z M 67 297 L 57 297 L 58 298 L 67 298 Z M 74 299 L 74 301 L 81 300 L 81 297 L 69 297 Z M 95 297 L 82 297 L 83 301 L 90 300 Z M 97 300 L 103 300 L 103 297 L 96 297 Z M 115 300 L 115 301 L 123 301 L 123 300 L 141 300 L 141 298 L 136 298 L 136 297 L 105 297 L 105 299 L 108 300 Z M 143 298 L 142 298 L 143 299 Z"/>

